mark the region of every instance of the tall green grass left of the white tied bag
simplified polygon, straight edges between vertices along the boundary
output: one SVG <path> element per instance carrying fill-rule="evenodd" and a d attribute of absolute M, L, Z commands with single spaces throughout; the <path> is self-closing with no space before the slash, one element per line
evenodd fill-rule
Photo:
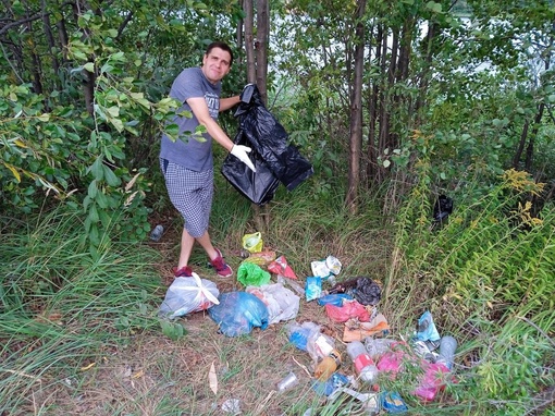
<path fill-rule="evenodd" d="M 2 412 L 47 414 L 47 387 L 66 387 L 134 331 L 158 325 L 158 254 L 112 235 L 92 256 L 82 230 L 67 207 L 27 222 L 2 219 Z"/>

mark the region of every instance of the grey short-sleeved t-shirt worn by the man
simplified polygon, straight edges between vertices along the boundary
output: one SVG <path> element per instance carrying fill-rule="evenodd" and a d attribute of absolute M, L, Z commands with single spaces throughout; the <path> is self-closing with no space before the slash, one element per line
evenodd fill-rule
<path fill-rule="evenodd" d="M 192 114 L 193 111 L 186 100 L 205 97 L 210 117 L 217 120 L 220 111 L 221 90 L 221 83 L 219 82 L 217 85 L 211 84 L 205 74 L 202 74 L 200 68 L 188 68 L 183 70 L 173 82 L 170 97 L 183 102 L 177 113 L 186 110 Z M 160 157 L 196 172 L 213 169 L 212 137 L 205 133 L 206 142 L 200 143 L 195 137 L 184 133 L 195 132 L 195 129 L 199 125 L 195 114 L 190 119 L 176 115 L 173 122 L 180 126 L 180 138 L 176 142 L 172 142 L 165 134 L 162 134 Z"/>

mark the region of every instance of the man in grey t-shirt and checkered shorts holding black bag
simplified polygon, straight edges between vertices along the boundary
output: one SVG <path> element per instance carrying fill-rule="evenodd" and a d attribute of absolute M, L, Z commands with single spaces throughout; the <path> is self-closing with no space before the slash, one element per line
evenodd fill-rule
<path fill-rule="evenodd" d="M 233 274 L 208 234 L 213 196 L 212 139 L 255 171 L 247 155 L 250 148 L 234 145 L 217 123 L 220 111 L 229 110 L 239 102 L 239 96 L 220 99 L 221 79 L 230 72 L 232 63 L 231 48 L 224 42 L 212 42 L 202 57 L 202 66 L 184 70 L 170 90 L 170 97 L 183 103 L 177 114 L 183 111 L 193 113 L 192 118 L 175 117 L 174 123 L 180 126 L 180 134 L 195 132 L 198 125 L 205 126 L 207 131 L 202 134 L 202 142 L 193 136 L 186 137 L 185 142 L 173 142 L 165 134 L 162 135 L 160 167 L 170 199 L 185 220 L 180 260 L 174 268 L 175 277 L 192 276 L 188 261 L 195 242 L 206 250 L 218 276 Z"/>

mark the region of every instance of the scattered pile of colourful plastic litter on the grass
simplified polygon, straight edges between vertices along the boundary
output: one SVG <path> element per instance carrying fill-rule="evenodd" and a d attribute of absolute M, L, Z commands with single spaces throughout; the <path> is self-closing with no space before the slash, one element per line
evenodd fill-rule
<path fill-rule="evenodd" d="M 408 339 L 395 339 L 378 308 L 378 282 L 368 277 L 337 282 L 342 264 L 328 256 L 311 262 L 313 276 L 300 284 L 284 256 L 263 249 L 260 233 L 245 235 L 243 247 L 248 257 L 237 270 L 237 281 L 244 291 L 220 293 L 213 282 L 196 273 L 176 278 L 160 306 L 160 316 L 174 319 L 208 310 L 219 331 L 227 337 L 286 322 L 288 342 L 311 357 L 313 391 L 329 402 L 348 396 L 358 402 L 365 415 L 408 411 L 399 392 L 381 387 L 382 381 L 394 380 L 400 372 L 417 375 L 409 394 L 421 402 L 437 400 L 446 384 L 455 382 L 452 370 L 457 341 L 449 335 L 440 337 L 430 311 L 418 319 Z M 317 302 L 330 321 L 343 325 L 340 345 L 328 326 L 295 320 L 301 298 Z M 296 375 L 289 372 L 278 383 L 276 391 L 298 384 Z M 304 416 L 310 415 L 316 413 L 308 409 Z"/>

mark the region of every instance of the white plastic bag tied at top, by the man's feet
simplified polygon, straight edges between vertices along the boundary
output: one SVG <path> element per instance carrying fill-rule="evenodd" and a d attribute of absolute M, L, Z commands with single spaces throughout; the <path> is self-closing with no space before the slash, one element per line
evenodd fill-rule
<path fill-rule="evenodd" d="M 220 303 L 219 295 L 220 291 L 214 282 L 200 279 L 195 272 L 192 278 L 175 278 L 168 287 L 165 298 L 160 306 L 160 315 L 174 319 L 205 310 Z"/>

